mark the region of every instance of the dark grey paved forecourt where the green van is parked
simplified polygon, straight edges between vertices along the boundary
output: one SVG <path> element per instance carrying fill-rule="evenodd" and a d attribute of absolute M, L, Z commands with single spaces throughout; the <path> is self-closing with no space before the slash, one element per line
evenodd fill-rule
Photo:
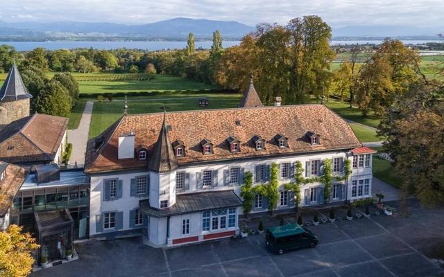
<path fill-rule="evenodd" d="M 311 226 L 320 244 L 282 256 L 266 250 L 262 235 L 166 250 L 141 238 L 92 240 L 78 244 L 80 260 L 32 276 L 444 276 L 421 253 L 444 241 L 443 210 L 411 211 Z"/>

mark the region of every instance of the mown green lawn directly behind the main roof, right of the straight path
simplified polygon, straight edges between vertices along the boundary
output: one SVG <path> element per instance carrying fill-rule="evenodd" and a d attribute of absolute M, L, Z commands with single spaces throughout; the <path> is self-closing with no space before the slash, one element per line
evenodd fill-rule
<path fill-rule="evenodd" d="M 208 98 L 210 105 L 206 108 L 199 107 L 199 98 Z M 191 96 L 177 96 L 174 94 L 164 96 L 148 96 L 139 100 L 128 99 L 128 114 L 146 114 L 162 111 L 167 105 L 167 111 L 186 111 L 193 109 L 222 109 L 239 106 L 241 94 L 192 94 Z M 89 138 L 101 134 L 123 114 L 123 101 L 94 102 Z"/>

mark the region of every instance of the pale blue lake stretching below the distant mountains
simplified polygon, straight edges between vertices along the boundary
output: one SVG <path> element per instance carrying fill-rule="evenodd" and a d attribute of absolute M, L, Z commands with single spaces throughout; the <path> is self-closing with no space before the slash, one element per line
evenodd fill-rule
<path fill-rule="evenodd" d="M 443 40 L 404 40 L 404 44 L 425 44 L 426 42 L 444 42 Z M 239 41 L 223 41 L 224 48 L 238 45 Z M 332 40 L 331 45 L 338 44 L 381 44 L 382 40 Z M 30 51 L 37 47 L 43 47 L 48 50 L 73 49 L 73 48 L 96 48 L 96 49 L 115 49 L 115 48 L 135 48 L 144 50 L 163 50 L 185 48 L 187 42 L 0 42 L 14 46 L 17 51 Z M 196 48 L 211 48 L 212 42 L 196 42 Z"/>

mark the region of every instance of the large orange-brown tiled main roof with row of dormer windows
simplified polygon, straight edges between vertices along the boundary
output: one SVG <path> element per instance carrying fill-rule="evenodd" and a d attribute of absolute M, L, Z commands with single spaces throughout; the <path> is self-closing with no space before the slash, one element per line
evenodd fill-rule
<path fill-rule="evenodd" d="M 135 132 L 135 148 L 146 145 L 149 160 L 159 138 L 163 117 L 163 114 L 139 114 L 123 116 L 117 120 L 103 132 L 104 142 L 100 148 L 96 148 L 96 139 L 89 140 L 85 172 L 146 168 L 148 161 L 117 159 L 118 136 L 121 133 Z M 185 145 L 185 157 L 177 158 L 179 166 L 200 161 L 223 161 L 362 146 L 348 123 L 324 105 L 180 111 L 167 113 L 166 119 L 169 141 L 180 140 Z M 306 136 L 307 132 L 320 134 L 321 143 L 311 145 Z M 274 139 L 276 134 L 288 138 L 288 148 L 279 148 Z M 255 150 L 252 141 L 255 135 L 264 139 L 265 150 Z M 227 143 L 230 136 L 239 139 L 240 152 L 230 152 Z M 212 141 L 214 154 L 202 153 L 200 141 L 203 139 Z"/>

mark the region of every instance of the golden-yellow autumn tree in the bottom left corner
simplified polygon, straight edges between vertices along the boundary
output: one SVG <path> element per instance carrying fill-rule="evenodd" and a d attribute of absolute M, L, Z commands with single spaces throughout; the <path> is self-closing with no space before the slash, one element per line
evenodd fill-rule
<path fill-rule="evenodd" d="M 0 232 L 0 277 L 28 276 L 34 262 L 31 253 L 38 247 L 35 239 L 17 225 Z"/>

